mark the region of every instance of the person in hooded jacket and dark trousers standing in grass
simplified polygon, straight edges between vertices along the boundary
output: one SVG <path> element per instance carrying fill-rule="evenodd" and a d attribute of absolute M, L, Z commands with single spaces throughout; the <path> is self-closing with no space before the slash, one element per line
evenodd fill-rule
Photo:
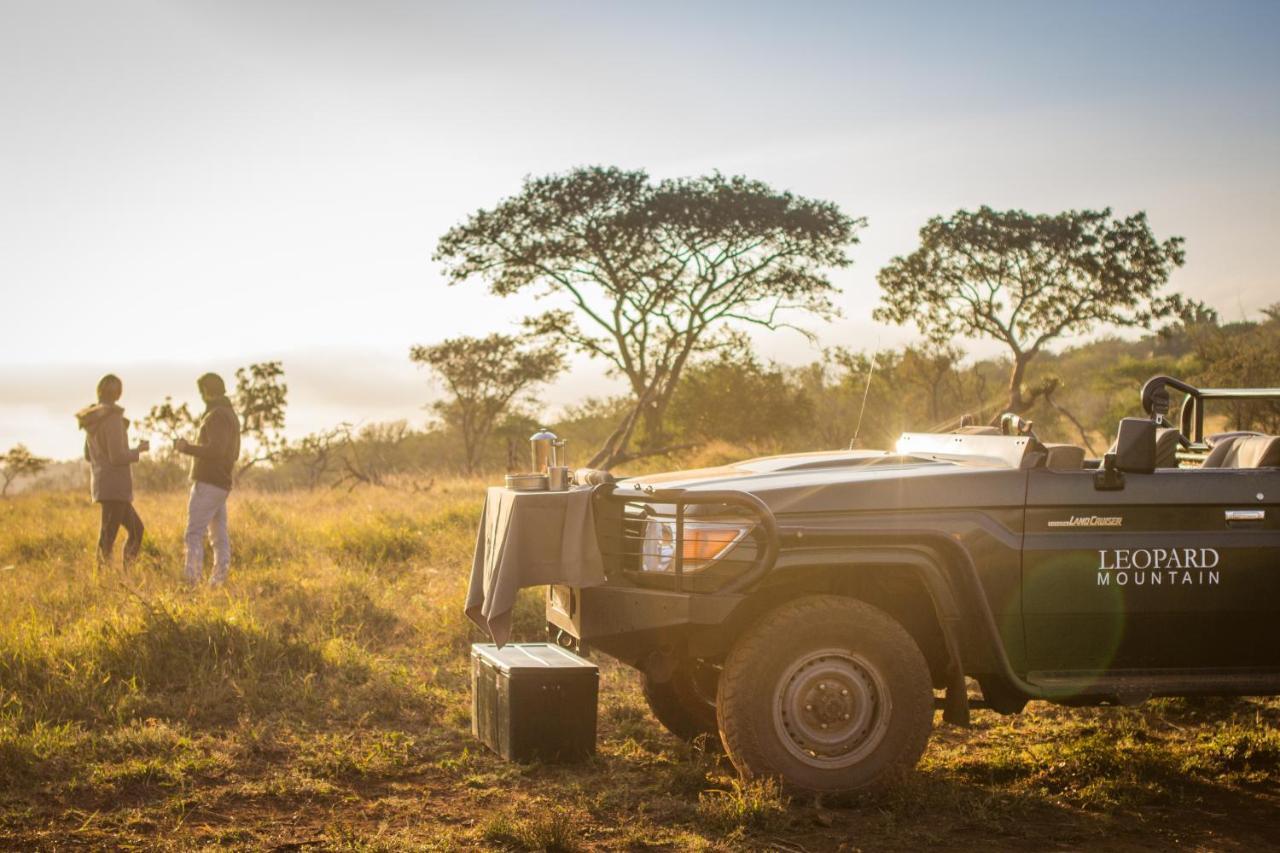
<path fill-rule="evenodd" d="M 129 421 L 118 401 L 124 393 L 119 377 L 106 374 L 97 383 L 97 402 L 76 412 L 84 430 L 84 459 L 90 464 L 90 492 L 102 508 L 97 532 L 97 560 L 110 562 L 115 537 L 123 526 L 124 566 L 129 567 L 142 548 L 142 519 L 133 508 L 131 466 L 150 450 L 147 442 L 129 447 Z"/>

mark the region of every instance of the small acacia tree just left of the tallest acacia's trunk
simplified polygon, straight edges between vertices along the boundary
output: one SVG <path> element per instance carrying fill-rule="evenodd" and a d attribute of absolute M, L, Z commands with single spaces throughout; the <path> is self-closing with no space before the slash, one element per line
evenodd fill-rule
<path fill-rule="evenodd" d="M 467 474 L 475 474 L 494 424 L 534 387 L 564 369 L 556 342 L 530 345 L 511 334 L 416 346 L 410 360 L 430 368 L 448 387 L 451 398 L 431 407 L 462 434 Z"/>

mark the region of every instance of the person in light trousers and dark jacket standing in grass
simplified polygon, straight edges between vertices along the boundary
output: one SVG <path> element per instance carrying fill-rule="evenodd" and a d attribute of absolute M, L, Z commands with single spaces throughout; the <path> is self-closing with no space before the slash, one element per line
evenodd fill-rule
<path fill-rule="evenodd" d="M 200 435 L 195 443 L 179 438 L 174 447 L 191 456 L 191 500 L 187 502 L 187 584 L 195 587 L 205 570 L 205 532 L 214 540 L 211 587 L 227 583 L 232 542 L 227 530 L 227 498 L 232 473 L 239 459 L 239 418 L 227 398 L 227 384 L 216 373 L 206 373 L 196 387 L 205 401 Z"/>

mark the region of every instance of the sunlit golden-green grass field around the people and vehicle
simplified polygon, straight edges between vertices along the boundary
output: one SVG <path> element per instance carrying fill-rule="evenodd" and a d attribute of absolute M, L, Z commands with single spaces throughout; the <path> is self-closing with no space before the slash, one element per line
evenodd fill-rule
<path fill-rule="evenodd" d="M 232 498 L 236 566 L 179 578 L 184 496 L 97 571 L 79 494 L 0 501 L 0 847 L 1239 849 L 1280 845 L 1280 702 L 1033 703 L 937 724 L 874 797 L 741 785 L 605 660 L 599 754 L 470 734 L 461 613 L 479 483 Z M 541 638 L 541 605 L 517 630 Z"/>

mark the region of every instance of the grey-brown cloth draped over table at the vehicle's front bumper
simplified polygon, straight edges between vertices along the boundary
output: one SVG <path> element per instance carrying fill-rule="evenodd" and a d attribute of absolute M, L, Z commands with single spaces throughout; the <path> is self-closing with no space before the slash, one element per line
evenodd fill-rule
<path fill-rule="evenodd" d="M 525 587 L 604 583 L 591 492 L 590 487 L 567 492 L 489 489 L 466 612 L 498 646 L 511 639 L 511 611 L 516 593 Z"/>

